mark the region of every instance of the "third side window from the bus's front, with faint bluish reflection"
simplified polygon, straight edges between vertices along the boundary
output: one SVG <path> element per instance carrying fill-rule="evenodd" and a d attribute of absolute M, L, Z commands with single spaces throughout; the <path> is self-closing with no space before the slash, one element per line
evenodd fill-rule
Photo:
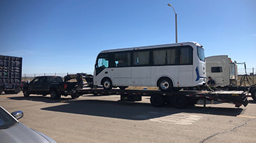
<path fill-rule="evenodd" d="M 134 66 L 149 65 L 149 51 L 134 52 L 133 64 Z"/>

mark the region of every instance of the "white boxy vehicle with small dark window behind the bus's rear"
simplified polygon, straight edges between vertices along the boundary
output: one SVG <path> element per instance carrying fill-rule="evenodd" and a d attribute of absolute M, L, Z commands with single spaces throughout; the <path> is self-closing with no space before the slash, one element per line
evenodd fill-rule
<path fill-rule="evenodd" d="M 236 86 L 238 66 L 228 55 L 206 57 L 206 76 L 215 80 L 215 86 Z"/>

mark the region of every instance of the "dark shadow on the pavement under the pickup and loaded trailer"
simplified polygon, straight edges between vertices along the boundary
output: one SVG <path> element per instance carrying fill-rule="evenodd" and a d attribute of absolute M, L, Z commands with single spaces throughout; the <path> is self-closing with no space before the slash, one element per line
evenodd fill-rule
<path fill-rule="evenodd" d="M 93 115 L 106 118 L 119 118 L 127 120 L 149 120 L 152 118 L 161 118 L 166 115 L 177 113 L 202 113 L 210 115 L 237 116 L 242 112 L 242 108 L 203 108 L 200 106 L 188 107 L 186 109 L 176 109 L 165 106 L 154 108 L 150 103 L 141 102 L 120 102 L 120 101 L 102 101 L 102 100 L 73 100 L 72 98 L 61 98 L 52 100 L 50 97 L 31 96 L 9 97 L 11 100 L 40 101 L 45 103 L 64 103 L 41 110 L 49 110 L 61 113 L 73 113 L 80 115 Z M 141 118 L 143 116 L 143 118 Z"/>

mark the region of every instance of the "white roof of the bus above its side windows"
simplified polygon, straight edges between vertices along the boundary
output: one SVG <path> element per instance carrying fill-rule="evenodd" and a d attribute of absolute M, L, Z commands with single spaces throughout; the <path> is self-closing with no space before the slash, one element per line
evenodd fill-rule
<path fill-rule="evenodd" d="M 103 50 L 100 53 L 105 52 L 122 52 L 122 51 L 129 51 L 129 50 L 144 50 L 144 49 L 154 49 L 159 47 L 176 47 L 181 45 L 198 45 L 200 47 L 203 47 L 198 42 L 178 42 L 173 44 L 164 44 L 164 45 L 149 45 L 149 46 L 142 46 L 142 47 L 126 47 L 126 48 L 118 48 L 118 49 L 112 49 L 112 50 Z"/>

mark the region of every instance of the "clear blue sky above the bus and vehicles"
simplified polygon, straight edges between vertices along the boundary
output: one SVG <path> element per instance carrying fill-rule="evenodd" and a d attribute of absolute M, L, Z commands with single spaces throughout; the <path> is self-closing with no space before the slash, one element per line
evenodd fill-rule
<path fill-rule="evenodd" d="M 106 49 L 201 43 L 256 68 L 255 0 L 1 0 L 0 55 L 23 57 L 23 74 L 91 72 Z"/>

